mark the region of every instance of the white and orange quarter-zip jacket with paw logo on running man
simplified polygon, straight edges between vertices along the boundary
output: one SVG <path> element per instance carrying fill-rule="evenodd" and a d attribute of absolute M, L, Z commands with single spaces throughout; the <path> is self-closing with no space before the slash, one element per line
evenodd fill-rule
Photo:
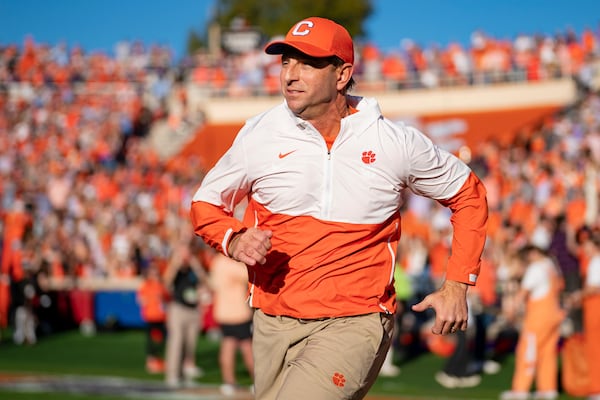
<path fill-rule="evenodd" d="M 384 118 L 374 99 L 349 101 L 357 112 L 342 119 L 331 149 L 285 102 L 249 119 L 193 197 L 195 233 L 225 255 L 246 227 L 273 232 L 267 262 L 248 266 L 250 305 L 266 314 L 394 312 L 406 188 L 453 212 L 447 279 L 477 279 L 487 220 L 479 179 L 418 130 Z"/>

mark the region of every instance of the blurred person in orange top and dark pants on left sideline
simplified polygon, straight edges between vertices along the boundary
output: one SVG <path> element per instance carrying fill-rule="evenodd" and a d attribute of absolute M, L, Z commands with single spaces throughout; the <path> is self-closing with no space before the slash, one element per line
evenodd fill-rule
<path fill-rule="evenodd" d="M 142 319 L 146 322 L 146 371 L 151 374 L 162 373 L 165 370 L 165 307 L 169 300 L 169 292 L 155 263 L 148 265 L 146 277 L 136 292 L 136 300 Z"/>

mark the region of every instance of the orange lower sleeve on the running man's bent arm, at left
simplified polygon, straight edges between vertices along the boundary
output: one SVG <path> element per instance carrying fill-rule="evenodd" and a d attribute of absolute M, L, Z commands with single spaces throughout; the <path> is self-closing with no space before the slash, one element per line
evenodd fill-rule
<path fill-rule="evenodd" d="M 191 218 L 194 233 L 228 257 L 229 240 L 234 233 L 246 228 L 222 207 L 204 201 L 192 202 Z"/>

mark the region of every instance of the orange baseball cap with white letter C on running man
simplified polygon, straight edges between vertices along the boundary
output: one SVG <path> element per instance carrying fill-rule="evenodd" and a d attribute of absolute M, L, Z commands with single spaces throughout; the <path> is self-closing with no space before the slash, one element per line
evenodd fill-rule
<path fill-rule="evenodd" d="M 282 54 L 293 47 L 311 57 L 337 56 L 354 64 L 352 37 L 343 26 L 327 18 L 310 17 L 297 22 L 285 35 L 265 47 L 267 54 Z"/>

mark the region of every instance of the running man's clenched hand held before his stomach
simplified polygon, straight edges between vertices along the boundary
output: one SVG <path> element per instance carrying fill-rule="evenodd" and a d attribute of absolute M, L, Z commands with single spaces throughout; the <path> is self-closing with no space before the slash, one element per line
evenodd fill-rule
<path fill-rule="evenodd" d="M 265 256 L 271 249 L 272 236 L 270 230 L 249 228 L 229 241 L 227 252 L 231 258 L 246 265 L 264 264 L 267 261 Z"/>

